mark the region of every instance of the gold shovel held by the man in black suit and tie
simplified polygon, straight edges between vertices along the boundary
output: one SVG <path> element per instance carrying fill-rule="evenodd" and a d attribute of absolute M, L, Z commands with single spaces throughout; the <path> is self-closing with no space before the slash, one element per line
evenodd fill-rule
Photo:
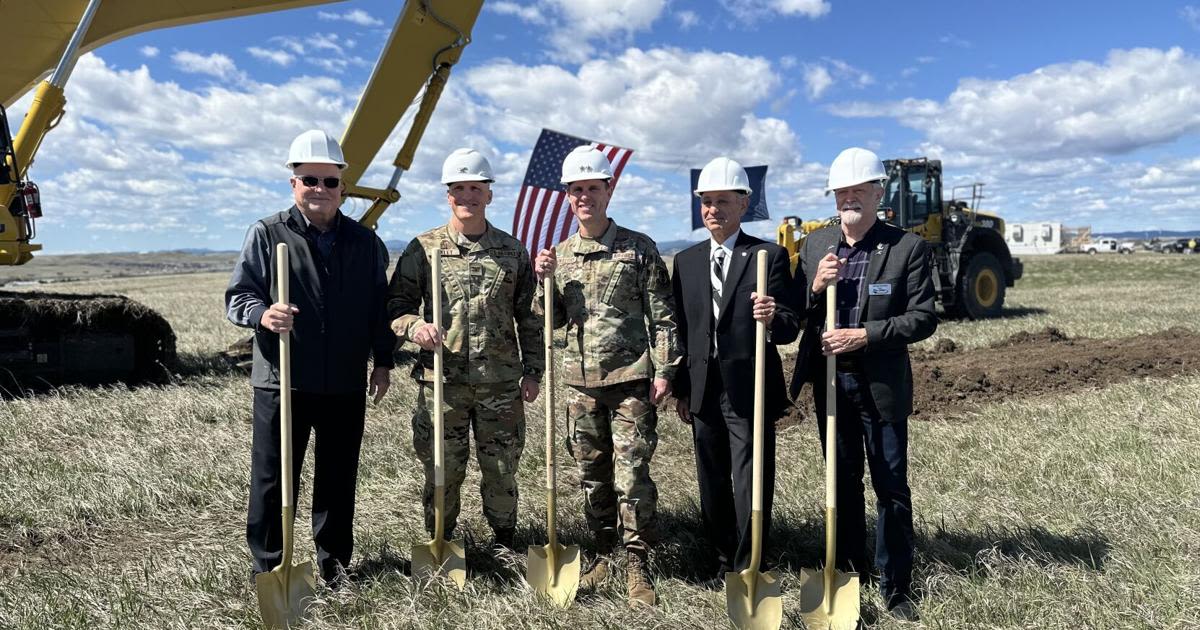
<path fill-rule="evenodd" d="M 758 295 L 767 294 L 767 251 L 758 250 Z M 774 630 L 784 620 L 779 577 L 762 572 L 762 425 L 767 373 L 767 324 L 755 324 L 754 482 L 750 511 L 750 566 L 725 574 L 725 608 L 739 630 Z"/>

